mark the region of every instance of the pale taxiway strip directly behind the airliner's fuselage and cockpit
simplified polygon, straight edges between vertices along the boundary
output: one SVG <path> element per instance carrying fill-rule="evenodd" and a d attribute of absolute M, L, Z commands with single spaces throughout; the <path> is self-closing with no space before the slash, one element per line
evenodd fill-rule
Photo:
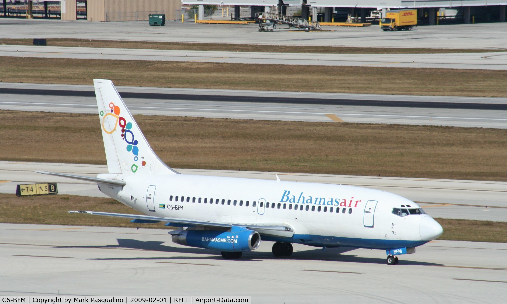
<path fill-rule="evenodd" d="M 57 182 L 59 194 L 106 197 L 96 183 L 49 176 L 33 171 L 61 172 L 95 177 L 106 166 L 0 161 L 0 193 L 16 191 L 17 184 Z M 507 221 L 507 182 L 401 177 L 371 177 L 283 172 L 175 169 L 183 174 L 348 184 L 395 193 L 420 203 L 433 217 Z M 485 206 L 488 206 L 487 208 Z M 91 210 L 93 211 L 93 210 Z"/>

